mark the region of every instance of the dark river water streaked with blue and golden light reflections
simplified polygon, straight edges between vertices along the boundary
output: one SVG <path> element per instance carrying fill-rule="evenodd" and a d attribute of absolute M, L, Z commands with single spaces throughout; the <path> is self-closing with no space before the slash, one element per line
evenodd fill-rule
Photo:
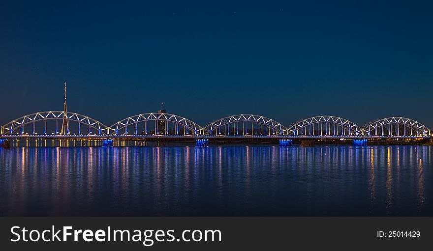
<path fill-rule="evenodd" d="M 432 150 L 0 148 L 0 215 L 432 216 Z"/>

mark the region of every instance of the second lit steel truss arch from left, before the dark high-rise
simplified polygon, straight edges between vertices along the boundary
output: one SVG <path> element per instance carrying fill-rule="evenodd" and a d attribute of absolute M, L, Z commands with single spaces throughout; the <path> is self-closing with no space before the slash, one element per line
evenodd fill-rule
<path fill-rule="evenodd" d="M 147 129 L 147 122 L 148 121 L 164 121 L 167 123 L 175 124 L 175 134 L 179 134 L 179 126 L 182 126 L 184 128 L 184 134 L 192 134 L 192 135 L 203 135 L 203 127 L 201 127 L 199 124 L 176 114 L 170 114 L 170 113 L 159 113 L 159 112 L 149 112 L 149 113 L 141 113 L 134 116 L 130 116 L 127 118 L 124 118 L 116 123 L 114 123 L 112 126 L 108 127 L 108 134 L 112 135 L 120 135 L 122 132 L 124 132 L 125 135 L 128 134 L 128 126 L 134 125 L 134 134 L 138 135 L 137 133 L 137 124 L 145 122 L 145 134 L 148 133 Z M 168 127 L 165 127 L 167 130 Z M 160 134 L 161 132 L 157 132 L 157 126 L 155 125 L 155 135 Z M 167 132 L 164 132 L 166 134 Z"/>

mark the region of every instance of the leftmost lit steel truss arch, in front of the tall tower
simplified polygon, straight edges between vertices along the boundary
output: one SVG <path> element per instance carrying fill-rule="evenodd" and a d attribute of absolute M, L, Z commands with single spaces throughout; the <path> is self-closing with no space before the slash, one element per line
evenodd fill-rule
<path fill-rule="evenodd" d="M 89 126 L 89 134 L 91 128 L 98 131 L 98 134 L 104 134 L 106 126 L 101 122 L 76 112 L 66 112 L 66 119 L 68 122 L 77 122 L 79 124 L 78 134 L 81 134 L 81 125 Z M 46 134 L 46 121 L 47 120 L 63 120 L 63 111 L 49 111 L 49 112 L 35 112 L 19 118 L 16 118 L 9 123 L 1 126 L 1 134 L 13 134 L 17 129 L 21 129 L 21 133 L 24 133 L 24 126 L 33 124 L 32 134 L 35 133 L 34 123 L 39 121 L 45 121 L 44 134 Z M 57 122 L 56 122 L 56 134 L 58 134 Z"/>

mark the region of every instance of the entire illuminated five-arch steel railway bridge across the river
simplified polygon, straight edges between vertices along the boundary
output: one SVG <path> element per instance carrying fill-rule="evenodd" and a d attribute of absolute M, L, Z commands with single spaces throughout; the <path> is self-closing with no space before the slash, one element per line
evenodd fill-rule
<path fill-rule="evenodd" d="M 66 123 L 64 122 L 66 120 Z M 67 130 L 61 131 L 62 125 Z M 337 116 L 321 115 L 284 126 L 274 119 L 237 114 L 219 118 L 205 126 L 176 114 L 141 113 L 111 126 L 75 112 L 35 112 L 1 126 L 1 137 L 39 139 L 415 139 L 430 138 L 422 123 L 393 116 L 373 120 L 360 127 Z"/>

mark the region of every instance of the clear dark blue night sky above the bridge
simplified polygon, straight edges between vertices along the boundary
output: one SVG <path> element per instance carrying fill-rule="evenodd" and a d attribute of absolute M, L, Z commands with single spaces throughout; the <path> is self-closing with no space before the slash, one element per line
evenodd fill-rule
<path fill-rule="evenodd" d="M 302 2 L 302 3 L 301 3 Z M 1 1 L 4 124 L 68 109 L 111 125 L 167 112 L 433 127 L 433 5 L 408 1 Z"/>

